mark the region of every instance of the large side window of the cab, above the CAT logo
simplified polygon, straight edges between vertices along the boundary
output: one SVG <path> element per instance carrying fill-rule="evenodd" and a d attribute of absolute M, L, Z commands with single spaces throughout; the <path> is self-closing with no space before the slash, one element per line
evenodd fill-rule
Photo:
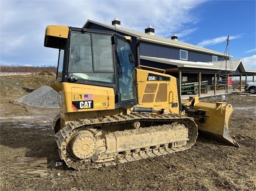
<path fill-rule="evenodd" d="M 72 34 L 69 78 L 114 83 L 110 34 Z"/>

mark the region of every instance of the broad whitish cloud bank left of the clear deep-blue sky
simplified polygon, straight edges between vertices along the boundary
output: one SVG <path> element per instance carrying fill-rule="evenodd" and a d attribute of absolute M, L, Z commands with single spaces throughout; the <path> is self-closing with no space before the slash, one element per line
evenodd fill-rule
<path fill-rule="evenodd" d="M 60 6 L 60 1 L 1 1 L 0 62 L 56 65 L 58 50 L 43 47 L 45 27 L 50 24 L 82 27 L 88 19 L 111 24 L 118 17 L 128 29 L 144 32 L 151 24 L 158 36 L 186 37 L 200 20 L 193 9 L 204 2 L 142 0 L 135 6 L 135 1 L 72 0 Z"/>

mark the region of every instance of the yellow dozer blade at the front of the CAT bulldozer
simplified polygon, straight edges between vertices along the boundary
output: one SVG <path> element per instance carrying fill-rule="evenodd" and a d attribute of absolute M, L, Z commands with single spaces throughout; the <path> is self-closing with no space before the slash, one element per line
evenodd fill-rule
<path fill-rule="evenodd" d="M 185 113 L 195 119 L 199 131 L 208 137 L 240 147 L 229 132 L 228 124 L 233 112 L 231 104 L 200 102 L 198 97 L 190 97 L 188 103 L 183 100 L 183 104 L 191 109 Z"/>

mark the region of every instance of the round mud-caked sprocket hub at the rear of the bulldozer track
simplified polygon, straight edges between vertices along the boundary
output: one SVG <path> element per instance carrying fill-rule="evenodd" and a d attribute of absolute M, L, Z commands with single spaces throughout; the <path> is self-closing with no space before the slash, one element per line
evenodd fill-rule
<path fill-rule="evenodd" d="M 97 148 L 96 143 L 93 133 L 82 130 L 73 136 L 70 142 L 70 150 L 75 157 L 79 159 L 88 159 L 95 153 Z"/>

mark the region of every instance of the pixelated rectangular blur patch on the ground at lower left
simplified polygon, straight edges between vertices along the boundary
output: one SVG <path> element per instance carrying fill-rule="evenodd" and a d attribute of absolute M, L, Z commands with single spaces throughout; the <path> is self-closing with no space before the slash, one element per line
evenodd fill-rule
<path fill-rule="evenodd" d="M 11 177 L 45 178 L 47 177 L 47 158 L 14 157 L 11 159 Z"/>

